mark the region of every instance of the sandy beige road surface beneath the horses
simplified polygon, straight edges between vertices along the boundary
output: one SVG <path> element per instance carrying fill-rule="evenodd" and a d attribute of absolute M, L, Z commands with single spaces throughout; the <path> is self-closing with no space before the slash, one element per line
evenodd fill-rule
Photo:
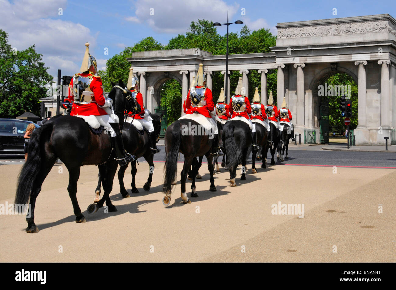
<path fill-rule="evenodd" d="M 93 201 L 97 167 L 82 167 L 77 197 L 88 221 L 84 224 L 74 222 L 67 169 L 55 165 L 36 203 L 39 233 L 25 233 L 24 216 L 0 215 L 0 261 L 396 261 L 395 169 L 339 167 L 335 174 L 332 167 L 275 165 L 257 174 L 249 169 L 243 182 L 239 170 L 234 188 L 222 169 L 215 175 L 217 192 L 212 193 L 209 174 L 202 168 L 199 197 L 191 204 L 181 203 L 178 182 L 171 206 L 164 208 L 163 165 L 156 163 L 152 188 L 146 192 L 148 166 L 141 163 L 140 193 L 130 198 L 121 198 L 114 180 L 111 198 L 118 212 L 101 209 L 93 215 L 86 208 Z M 0 165 L 1 204 L 13 202 L 20 169 L 21 165 Z M 130 180 L 126 175 L 128 190 Z M 278 184 L 276 190 L 269 188 L 269 180 Z M 304 218 L 271 214 L 271 205 L 279 201 L 304 204 Z M 383 213 L 378 213 L 379 205 Z M 337 253 L 332 252 L 334 245 Z"/>

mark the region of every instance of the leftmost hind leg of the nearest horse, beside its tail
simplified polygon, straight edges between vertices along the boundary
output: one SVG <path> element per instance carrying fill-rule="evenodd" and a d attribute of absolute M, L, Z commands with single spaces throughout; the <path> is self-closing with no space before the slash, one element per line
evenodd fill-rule
<path fill-rule="evenodd" d="M 27 214 L 26 214 L 26 221 L 27 221 L 27 228 L 26 232 L 27 233 L 38 233 L 38 227 L 34 223 L 34 207 L 36 206 L 36 198 L 38 194 L 41 191 L 41 186 L 46 179 L 49 171 L 51 171 L 53 165 L 55 164 L 56 158 L 53 159 L 48 159 L 46 162 L 45 166 L 42 166 L 42 170 L 40 170 L 40 174 L 37 177 L 36 184 L 34 186 L 35 190 L 32 191 L 30 194 L 30 201 L 29 201 L 29 206 L 27 208 Z M 44 167 L 44 168 L 43 168 Z M 26 208 L 25 208 L 26 212 Z"/>

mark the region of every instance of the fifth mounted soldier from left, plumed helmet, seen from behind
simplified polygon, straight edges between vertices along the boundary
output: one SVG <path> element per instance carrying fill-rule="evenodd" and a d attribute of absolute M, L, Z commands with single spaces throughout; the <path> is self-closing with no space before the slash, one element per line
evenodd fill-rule
<path fill-rule="evenodd" d="M 252 134 L 252 147 L 254 150 L 258 150 L 259 146 L 257 145 L 257 142 L 255 142 L 255 137 L 254 133 L 256 132 L 255 129 L 255 124 L 251 122 L 250 119 L 250 114 L 251 114 L 251 107 L 250 107 L 250 102 L 249 99 L 244 95 L 244 87 L 242 85 L 242 77 L 239 78 L 238 80 L 238 85 L 236 86 L 235 89 L 235 95 L 233 95 L 230 99 L 230 105 L 229 105 L 229 112 L 231 115 L 231 119 L 241 116 L 246 118 L 247 123 L 249 123 L 249 127 L 251 128 L 251 134 Z"/>

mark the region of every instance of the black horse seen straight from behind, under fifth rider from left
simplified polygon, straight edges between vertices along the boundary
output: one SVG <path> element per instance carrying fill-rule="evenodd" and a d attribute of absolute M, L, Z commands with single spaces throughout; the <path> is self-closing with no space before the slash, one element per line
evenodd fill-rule
<path fill-rule="evenodd" d="M 249 125 L 244 121 L 228 121 L 224 124 L 222 138 L 226 155 L 225 169 L 230 171 L 230 185 L 236 186 L 236 168 L 242 163 L 241 180 L 246 180 L 247 149 L 251 146 L 252 136 Z"/>

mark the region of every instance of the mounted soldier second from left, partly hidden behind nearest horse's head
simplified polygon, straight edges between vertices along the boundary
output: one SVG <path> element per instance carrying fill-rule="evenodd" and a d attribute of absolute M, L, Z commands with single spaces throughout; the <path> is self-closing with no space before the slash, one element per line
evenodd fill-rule
<path fill-rule="evenodd" d="M 133 74 L 133 68 L 129 68 L 129 76 L 128 76 L 128 83 L 127 83 L 127 89 L 131 91 L 132 97 L 136 100 L 136 102 L 140 105 L 140 112 L 137 114 L 133 114 L 132 112 L 128 112 L 128 116 L 132 117 L 141 125 L 143 126 L 144 129 L 147 130 L 148 136 L 150 137 L 150 150 L 151 154 L 156 154 L 161 151 L 156 146 L 156 134 L 154 130 L 154 125 L 152 124 L 152 118 L 150 117 L 150 112 L 148 109 L 145 109 L 144 104 L 143 104 L 143 95 L 139 91 L 139 80 L 137 77 Z"/>

